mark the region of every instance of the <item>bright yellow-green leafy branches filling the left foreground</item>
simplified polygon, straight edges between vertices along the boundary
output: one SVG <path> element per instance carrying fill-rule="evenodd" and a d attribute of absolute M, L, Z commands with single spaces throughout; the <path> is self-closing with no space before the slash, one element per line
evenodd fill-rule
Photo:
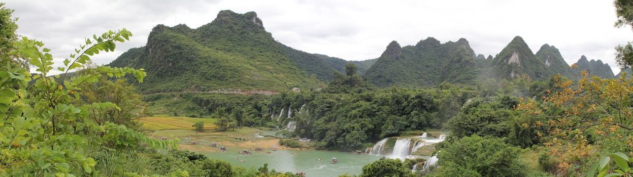
<path fill-rule="evenodd" d="M 77 74 L 70 79 L 66 73 L 90 62 L 99 52 L 115 49 L 115 42 L 124 42 L 131 36 L 125 29 L 108 31 L 75 49 L 58 79 L 47 74 L 53 69 L 53 56 L 44 43 L 24 37 L 16 42 L 16 51 L 35 66 L 39 74 L 31 76 L 26 69 L 0 71 L 0 176 L 28 174 L 55 174 L 73 176 L 72 169 L 92 173 L 96 161 L 87 157 L 89 146 L 110 148 L 137 147 L 146 144 L 153 148 L 166 148 L 177 144 L 171 140 L 149 139 L 123 125 L 112 122 L 97 123 L 91 117 L 94 110 L 120 110 L 114 103 L 73 105 L 80 98 L 84 83 L 97 83 L 99 77 L 134 75 L 139 82 L 145 77 L 142 69 L 97 67 Z M 33 81 L 32 81 L 33 79 Z M 58 82 L 60 81 L 60 82 Z M 31 82 L 32 84 L 28 84 Z"/>

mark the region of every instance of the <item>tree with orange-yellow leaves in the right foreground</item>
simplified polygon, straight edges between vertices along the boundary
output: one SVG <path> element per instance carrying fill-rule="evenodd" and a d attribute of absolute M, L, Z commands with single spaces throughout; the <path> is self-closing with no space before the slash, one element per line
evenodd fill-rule
<path fill-rule="evenodd" d="M 553 165 L 562 176 L 579 176 L 575 166 L 589 166 L 599 156 L 633 151 L 633 79 L 582 76 L 578 83 L 556 83 L 560 91 L 542 102 L 527 100 L 517 108 L 542 120 L 521 126 L 534 128 L 547 155 L 560 158 Z"/>

